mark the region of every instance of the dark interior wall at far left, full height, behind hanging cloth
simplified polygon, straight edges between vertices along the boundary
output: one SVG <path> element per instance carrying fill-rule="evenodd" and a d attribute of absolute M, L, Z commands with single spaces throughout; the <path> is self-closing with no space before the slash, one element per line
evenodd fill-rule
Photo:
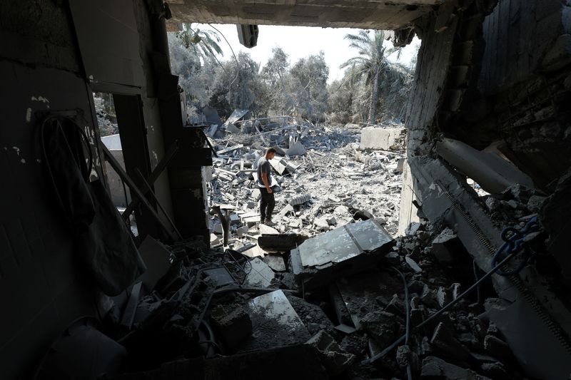
<path fill-rule="evenodd" d="M 96 314 L 96 291 L 78 269 L 36 135 L 48 110 L 76 110 L 76 122 L 95 133 L 69 14 L 55 4 L 0 4 L 2 379 L 29 378 L 69 322 Z"/>

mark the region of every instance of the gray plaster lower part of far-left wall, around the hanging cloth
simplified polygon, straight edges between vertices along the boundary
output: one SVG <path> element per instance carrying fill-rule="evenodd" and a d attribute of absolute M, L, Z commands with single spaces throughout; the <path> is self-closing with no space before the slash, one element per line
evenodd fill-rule
<path fill-rule="evenodd" d="M 86 282 L 36 140 L 36 111 L 90 115 L 90 93 L 75 73 L 1 58 L 0 83 L 0 369 L 2 379 L 28 379 L 71 321 L 96 315 L 96 289 Z M 94 133 L 92 120 L 76 122 Z"/>

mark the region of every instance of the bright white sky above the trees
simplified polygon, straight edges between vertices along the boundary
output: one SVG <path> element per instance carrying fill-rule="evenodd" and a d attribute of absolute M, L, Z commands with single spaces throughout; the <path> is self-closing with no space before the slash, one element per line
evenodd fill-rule
<path fill-rule="evenodd" d="M 323 50 L 325 53 L 325 62 L 329 66 L 328 83 L 335 79 L 343 78 L 343 71 L 340 69 L 341 63 L 357 54 L 355 49 L 349 48 L 349 41 L 345 40 L 346 34 L 355 34 L 357 29 L 335 29 L 335 28 L 318 28 L 310 26 L 268 26 L 260 25 L 258 34 L 258 46 L 246 48 L 238 41 L 238 32 L 236 25 L 214 25 L 216 29 L 228 39 L 228 43 L 236 55 L 238 51 L 246 51 L 250 53 L 253 60 L 264 66 L 268 58 L 272 55 L 272 48 L 280 46 L 290 58 L 290 64 L 295 63 L 300 58 L 305 58 L 310 54 L 318 54 Z M 200 25 L 199 29 L 209 29 L 208 25 Z M 232 58 L 231 48 L 228 43 L 222 39 L 220 46 L 224 51 L 223 60 Z M 386 41 L 388 47 L 393 44 Z M 416 55 L 420 47 L 420 40 L 415 36 L 410 45 L 402 49 L 398 61 L 405 66 L 410 65 L 410 60 Z M 396 54 L 389 57 L 391 61 L 397 61 Z"/>

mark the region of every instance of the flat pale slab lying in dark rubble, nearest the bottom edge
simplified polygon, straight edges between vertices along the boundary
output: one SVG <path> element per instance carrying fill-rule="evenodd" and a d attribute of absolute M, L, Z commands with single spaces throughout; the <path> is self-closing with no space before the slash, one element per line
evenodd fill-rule
<path fill-rule="evenodd" d="M 276 290 L 248 302 L 253 334 L 241 351 L 307 342 L 310 334 L 285 294 Z"/>

